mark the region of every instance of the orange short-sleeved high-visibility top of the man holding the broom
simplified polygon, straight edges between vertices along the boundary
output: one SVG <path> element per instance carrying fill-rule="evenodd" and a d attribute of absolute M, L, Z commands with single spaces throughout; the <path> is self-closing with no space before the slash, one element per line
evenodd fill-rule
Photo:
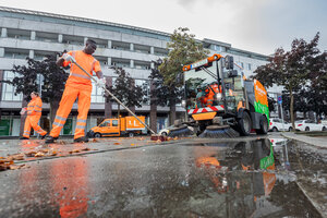
<path fill-rule="evenodd" d="M 75 58 L 78 65 L 81 65 L 90 75 L 93 75 L 93 72 L 101 71 L 99 61 L 97 61 L 92 55 L 87 55 L 82 50 L 69 51 L 68 53 Z M 71 73 L 65 84 L 76 88 L 83 88 L 83 86 L 92 87 L 90 77 L 74 63 L 71 63 L 70 61 L 63 62 L 63 66 L 68 66 L 69 64 L 71 64 Z"/>

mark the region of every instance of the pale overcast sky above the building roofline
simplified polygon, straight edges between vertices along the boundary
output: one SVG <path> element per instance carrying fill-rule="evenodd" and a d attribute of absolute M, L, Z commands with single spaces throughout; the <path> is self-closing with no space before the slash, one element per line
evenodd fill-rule
<path fill-rule="evenodd" d="M 166 33 L 189 27 L 196 38 L 270 55 L 293 38 L 320 32 L 327 50 L 327 0 L 0 0 L 0 5 L 96 19 Z"/>

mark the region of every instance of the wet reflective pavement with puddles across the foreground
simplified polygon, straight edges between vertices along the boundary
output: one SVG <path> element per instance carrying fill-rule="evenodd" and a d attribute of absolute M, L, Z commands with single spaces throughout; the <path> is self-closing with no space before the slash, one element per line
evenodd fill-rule
<path fill-rule="evenodd" d="M 327 149 L 268 137 L 0 141 L 57 153 L 0 171 L 0 217 L 327 217 Z"/>

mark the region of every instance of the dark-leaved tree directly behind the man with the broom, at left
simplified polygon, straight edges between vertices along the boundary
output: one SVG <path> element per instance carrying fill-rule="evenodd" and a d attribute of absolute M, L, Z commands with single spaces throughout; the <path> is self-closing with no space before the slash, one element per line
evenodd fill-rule
<path fill-rule="evenodd" d="M 12 69 L 17 76 L 13 81 L 7 81 L 15 87 L 15 95 L 23 94 L 26 101 L 31 100 L 29 94 L 32 92 L 41 93 L 43 101 L 50 104 L 50 124 L 59 107 L 64 82 L 68 78 L 68 74 L 56 64 L 56 56 L 48 56 L 43 61 L 26 58 L 26 65 L 14 65 Z M 38 76 L 44 77 L 41 90 L 37 84 Z"/>

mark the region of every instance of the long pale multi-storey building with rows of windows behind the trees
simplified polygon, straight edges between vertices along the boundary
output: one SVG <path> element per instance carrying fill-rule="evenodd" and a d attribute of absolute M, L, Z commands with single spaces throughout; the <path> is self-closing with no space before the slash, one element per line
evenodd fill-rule
<path fill-rule="evenodd" d="M 15 75 L 11 69 L 14 64 L 26 64 L 26 57 L 43 60 L 47 55 L 55 55 L 63 50 L 80 50 L 84 47 L 87 38 L 92 38 L 98 44 L 94 56 L 100 62 L 107 82 L 112 84 L 116 78 L 110 66 L 121 66 L 131 74 L 135 84 L 148 88 L 148 96 L 152 61 L 168 55 L 167 43 L 170 40 L 170 34 L 158 31 L 3 7 L 0 7 L 0 28 L 1 80 L 12 80 Z M 267 62 L 267 56 L 232 48 L 230 44 L 211 39 L 199 41 L 211 53 L 232 55 L 235 62 L 243 66 L 246 76 L 251 75 L 257 66 Z M 41 85 L 41 78 L 38 83 Z M 20 134 L 22 100 L 22 95 L 14 95 L 13 86 L 0 83 L 0 135 Z M 110 114 L 113 117 L 117 116 L 118 106 L 105 102 L 102 92 L 94 85 L 87 130 L 104 119 L 105 108 L 110 110 Z M 48 129 L 48 104 L 44 104 L 41 125 Z M 147 122 L 149 122 L 149 101 L 141 108 L 135 108 L 135 112 L 146 116 Z M 184 109 L 177 107 L 177 112 L 182 116 Z M 73 134 L 77 106 L 75 104 L 61 134 Z M 168 107 L 157 107 L 157 130 L 168 125 Z"/>

